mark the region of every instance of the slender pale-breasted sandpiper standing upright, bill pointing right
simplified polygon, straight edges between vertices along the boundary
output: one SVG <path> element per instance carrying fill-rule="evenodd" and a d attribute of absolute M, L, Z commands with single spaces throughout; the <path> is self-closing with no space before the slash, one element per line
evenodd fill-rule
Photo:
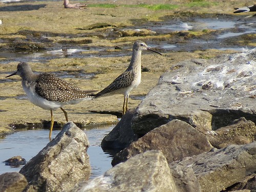
<path fill-rule="evenodd" d="M 123 94 L 123 115 L 128 110 L 128 99 L 130 92 L 135 89 L 141 81 L 141 51 L 149 50 L 162 55 L 161 53 L 147 47 L 145 42 L 136 40 L 133 45 L 133 55 L 129 67 L 119 75 L 108 87 L 93 95 L 95 97 L 109 94 Z M 126 101 L 126 105 L 125 105 Z"/>

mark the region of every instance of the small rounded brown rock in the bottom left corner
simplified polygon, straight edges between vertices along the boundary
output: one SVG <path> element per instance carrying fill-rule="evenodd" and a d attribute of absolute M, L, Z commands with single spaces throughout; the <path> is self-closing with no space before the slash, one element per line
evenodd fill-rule
<path fill-rule="evenodd" d="M 0 175 L 0 191 L 22 192 L 27 184 L 26 178 L 17 172 Z"/>

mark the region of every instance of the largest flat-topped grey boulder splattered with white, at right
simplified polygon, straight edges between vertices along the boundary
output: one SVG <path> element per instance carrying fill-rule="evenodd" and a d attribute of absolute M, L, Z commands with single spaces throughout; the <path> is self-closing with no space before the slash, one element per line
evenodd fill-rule
<path fill-rule="evenodd" d="M 256 122 L 255 55 L 253 49 L 177 63 L 139 104 L 132 129 L 144 135 L 168 121 L 180 119 L 206 133 L 240 117 Z"/>

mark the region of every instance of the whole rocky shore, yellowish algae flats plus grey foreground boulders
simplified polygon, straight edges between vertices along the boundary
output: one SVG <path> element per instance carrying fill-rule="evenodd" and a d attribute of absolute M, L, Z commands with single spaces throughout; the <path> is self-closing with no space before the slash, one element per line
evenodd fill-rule
<path fill-rule="evenodd" d="M 82 11 L 63 9 L 56 2 L 33 2 L 30 6 L 27 2 L 0 4 L 0 10 L 6 13 L 0 18 L 3 22 L 0 48 L 37 52 L 37 48 L 61 49 L 63 47 L 58 47 L 61 45 L 69 49 L 79 45 L 83 51 L 78 57 L 69 54 L 60 58 L 39 57 L 31 59 L 30 65 L 38 72 L 59 75 L 67 72 L 79 76 L 67 80 L 84 90 L 101 90 L 129 65 L 132 44 L 137 39 L 146 41 L 148 46 L 155 42 L 156 48 L 168 42 L 168 45 L 183 44 L 191 49 L 196 45 L 189 39 L 207 40 L 220 33 L 218 30 L 167 34 L 141 30 L 138 33 L 138 30 L 122 30 L 123 26 L 142 26 L 191 15 L 200 17 L 202 12 L 206 16 L 225 15 L 232 12 L 232 7 L 242 7 L 239 1 L 228 5 L 221 1 L 218 4 L 208 2 L 210 7 L 191 7 L 188 12 L 181 7 L 172 11 L 89 7 Z M 129 4 L 137 5 L 137 1 Z M 254 37 L 255 34 L 242 35 L 230 38 L 228 43 L 234 47 L 254 46 Z M 104 52 L 94 50 L 96 47 L 104 48 Z M 75 112 L 69 115 L 75 124 L 64 124 L 62 112 L 56 111 L 54 117 L 62 127 L 60 133 L 19 173 L 0 175 L 0 190 L 256 191 L 256 51 L 237 53 L 196 48 L 198 50 L 193 52 L 161 49 L 158 51 L 163 56 L 142 56 L 142 82 L 132 93 L 130 110 L 102 140 L 102 148 L 122 148 L 112 161 L 114 167 L 102 176 L 88 180 L 91 172 L 87 154 L 89 142 L 77 125 L 116 123 L 121 114 L 122 95 L 84 102 L 79 108 L 69 106 L 68 111 Z M 109 53 L 120 55 L 103 57 Z M 20 99 L 24 97 L 20 78 L 5 79 L 16 69 L 17 61 L 1 58 L 1 62 L 2 137 L 7 132 L 13 133 L 11 124 L 42 126 L 42 121 L 49 119 L 49 113 L 42 113 L 27 99 Z M 86 74 L 93 74 L 93 78 L 83 78 Z M 145 97 L 142 101 L 136 99 L 141 96 Z M 33 116 L 29 109 L 33 110 Z"/>

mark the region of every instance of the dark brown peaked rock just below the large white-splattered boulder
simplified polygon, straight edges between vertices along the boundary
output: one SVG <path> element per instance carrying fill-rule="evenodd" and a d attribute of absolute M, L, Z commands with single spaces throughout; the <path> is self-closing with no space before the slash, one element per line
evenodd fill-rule
<path fill-rule="evenodd" d="M 212 146 L 204 134 L 188 123 L 176 119 L 148 132 L 124 148 L 113 158 L 112 165 L 149 150 L 160 150 L 169 163 L 208 152 L 211 148 Z"/>

